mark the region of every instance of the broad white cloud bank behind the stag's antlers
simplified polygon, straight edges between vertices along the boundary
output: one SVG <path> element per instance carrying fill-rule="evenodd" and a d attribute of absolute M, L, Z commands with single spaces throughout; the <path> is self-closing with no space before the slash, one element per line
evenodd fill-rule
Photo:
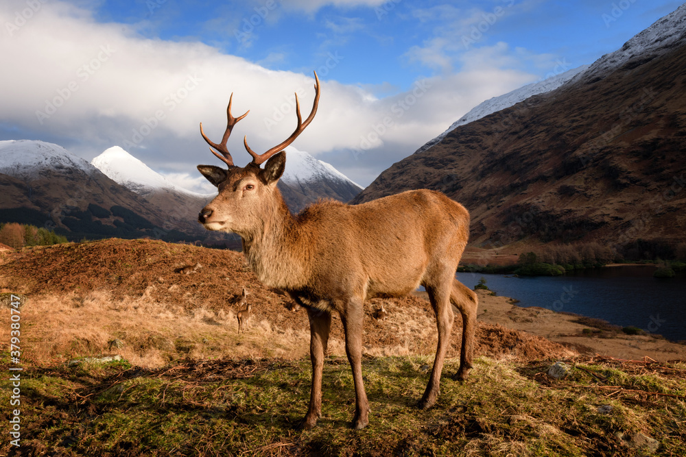
<path fill-rule="evenodd" d="M 296 5 L 329 3 L 373 6 L 383 1 L 303 0 Z M 14 24 L 16 12 L 25 6 L 24 1 L 3 2 L 0 24 Z M 29 132 L 34 136 L 29 139 L 58 138 L 88 160 L 120 145 L 153 169 L 176 173 L 171 176 L 189 186 L 198 182 L 196 164 L 218 164 L 198 123 L 218 141 L 231 92 L 235 115 L 250 110 L 229 140 L 237 164 L 249 158 L 244 135 L 256 151 L 289 136 L 296 123 L 294 91 L 304 116 L 314 97 L 311 74 L 270 71 L 200 42 L 142 38 L 126 25 L 97 23 L 87 10 L 58 0 L 41 3 L 25 23 L 2 33 L 1 123 Z M 368 184 L 374 173 L 414 152 L 476 104 L 535 79 L 503 69 L 502 62 L 513 53 L 506 45 L 486 51 L 472 55 L 471 66 L 463 62 L 459 73 L 420 79 L 382 99 L 359 86 L 323 81 L 317 117 L 296 147 L 339 157 L 331 162 L 352 173 L 364 169 L 351 178 Z M 436 55 L 436 64 L 443 65 Z M 320 69 L 337 65 L 332 57 L 322 58 Z M 376 149 L 351 153 L 366 147 Z"/>

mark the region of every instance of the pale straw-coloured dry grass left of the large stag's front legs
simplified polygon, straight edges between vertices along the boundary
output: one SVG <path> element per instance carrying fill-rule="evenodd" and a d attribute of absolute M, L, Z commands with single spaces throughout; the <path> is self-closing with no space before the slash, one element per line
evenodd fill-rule
<path fill-rule="evenodd" d="M 5 313 L 9 314 L 3 309 Z M 23 306 L 22 325 L 27 338 L 23 357 L 39 365 L 99 354 L 119 354 L 145 368 L 162 367 L 178 358 L 292 359 L 309 354 L 305 330 L 276 328 L 262 320 L 239 336 L 230 309 L 186 310 L 148 297 L 113 299 L 102 291 L 82 297 L 74 293 L 31 297 Z M 2 328 L 0 338 L 7 341 L 8 332 Z M 123 347 L 111 345 L 115 339 Z"/>

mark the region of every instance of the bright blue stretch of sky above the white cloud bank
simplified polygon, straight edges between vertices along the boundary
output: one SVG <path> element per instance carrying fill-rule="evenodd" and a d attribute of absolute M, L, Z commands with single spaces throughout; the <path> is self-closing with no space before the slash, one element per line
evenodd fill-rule
<path fill-rule="evenodd" d="M 289 5 L 291 3 L 291 5 Z M 300 8 L 296 5 L 300 4 Z M 309 5 L 308 5 L 309 3 Z M 507 43 L 518 69 L 544 77 L 556 62 L 589 64 L 672 12 L 680 1 L 103 1 L 97 21 L 141 36 L 200 40 L 273 70 L 325 75 L 383 96 L 420 77 L 460 71 L 465 51 Z M 295 5 L 294 5 L 295 4 Z M 324 73 L 320 71 L 320 73 Z"/>

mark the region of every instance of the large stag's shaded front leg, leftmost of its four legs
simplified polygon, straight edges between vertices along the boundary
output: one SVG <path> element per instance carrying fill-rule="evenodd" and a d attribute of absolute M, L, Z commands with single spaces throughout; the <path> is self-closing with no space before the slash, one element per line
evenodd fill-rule
<path fill-rule="evenodd" d="M 303 428 L 309 430 L 322 415 L 322 371 L 324 356 L 329 343 L 331 314 L 314 308 L 307 308 L 309 318 L 309 357 L 312 360 L 312 389 L 309 397 L 309 410 Z"/>

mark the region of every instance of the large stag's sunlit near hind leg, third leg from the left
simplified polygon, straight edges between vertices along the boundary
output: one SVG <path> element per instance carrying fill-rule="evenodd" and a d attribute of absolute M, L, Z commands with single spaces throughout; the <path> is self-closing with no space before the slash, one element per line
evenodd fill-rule
<path fill-rule="evenodd" d="M 434 314 L 436 314 L 438 347 L 436 347 L 436 358 L 434 359 L 434 368 L 431 370 L 429 384 L 427 384 L 426 391 L 417 405 L 422 409 L 433 406 L 440 393 L 440 374 L 443 370 L 443 360 L 450 345 L 450 334 L 453 330 L 454 317 L 453 309 L 450 306 L 452 273 L 450 271 L 442 273 L 442 276 L 444 276 L 444 280 L 439 281 L 438 284 L 424 284 L 427 293 L 429 293 L 431 308 L 434 308 Z"/>

